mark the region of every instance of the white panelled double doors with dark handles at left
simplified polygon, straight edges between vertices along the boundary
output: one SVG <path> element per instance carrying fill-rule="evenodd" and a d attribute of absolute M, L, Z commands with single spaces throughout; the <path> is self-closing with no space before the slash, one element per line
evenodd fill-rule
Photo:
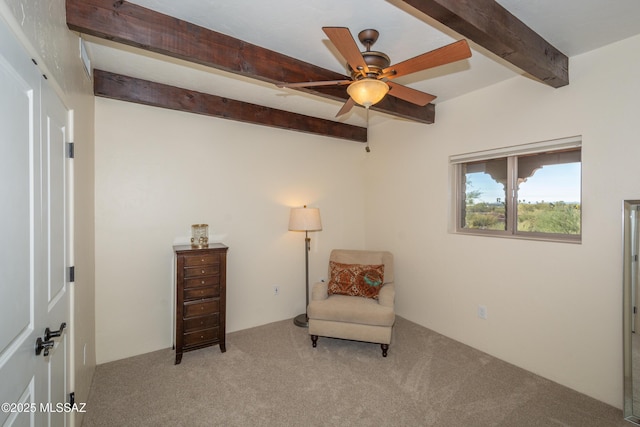
<path fill-rule="evenodd" d="M 67 112 L 1 20 L 0 94 L 0 425 L 66 425 Z"/>

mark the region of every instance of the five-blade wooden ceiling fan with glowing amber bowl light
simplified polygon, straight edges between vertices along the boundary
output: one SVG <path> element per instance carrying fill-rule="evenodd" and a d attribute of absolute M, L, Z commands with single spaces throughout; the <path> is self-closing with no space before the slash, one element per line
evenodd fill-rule
<path fill-rule="evenodd" d="M 389 65 L 391 60 L 386 54 L 371 50 L 371 46 L 378 40 L 377 30 L 363 30 L 358 34 L 358 39 L 366 47 L 364 52 L 360 52 L 348 28 L 322 27 L 322 30 L 338 49 L 338 52 L 347 60 L 351 79 L 278 83 L 277 86 L 286 88 L 347 86 L 349 99 L 338 111 L 336 117 L 349 112 L 355 104 L 360 104 L 368 109 L 371 105 L 380 102 L 387 94 L 416 105 L 427 105 L 436 98 L 434 95 L 394 83 L 391 80 L 471 56 L 469 44 L 463 39 L 395 65 Z"/>

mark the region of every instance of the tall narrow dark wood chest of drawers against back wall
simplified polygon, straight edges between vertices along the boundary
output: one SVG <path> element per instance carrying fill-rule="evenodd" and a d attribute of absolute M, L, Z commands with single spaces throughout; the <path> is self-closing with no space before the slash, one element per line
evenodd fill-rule
<path fill-rule="evenodd" d="M 227 250 L 174 246 L 176 254 L 176 365 L 182 353 L 219 344 L 225 352 Z"/>

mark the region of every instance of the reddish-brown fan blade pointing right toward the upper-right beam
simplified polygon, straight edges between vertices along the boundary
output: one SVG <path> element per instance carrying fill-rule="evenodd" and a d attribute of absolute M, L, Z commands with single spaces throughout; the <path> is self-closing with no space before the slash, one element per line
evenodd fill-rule
<path fill-rule="evenodd" d="M 428 68 L 460 61 L 461 59 L 466 59 L 470 56 L 471 49 L 469 49 L 469 44 L 463 39 L 439 49 L 407 59 L 406 61 L 399 62 L 395 65 L 391 65 L 390 67 L 382 70 L 382 73 L 390 73 L 387 78 L 395 79 L 396 77 L 405 76 Z"/>

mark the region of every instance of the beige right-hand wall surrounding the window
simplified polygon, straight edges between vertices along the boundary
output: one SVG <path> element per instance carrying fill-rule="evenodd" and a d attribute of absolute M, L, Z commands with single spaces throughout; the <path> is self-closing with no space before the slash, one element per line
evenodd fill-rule
<path fill-rule="evenodd" d="M 638 51 L 635 37 L 572 58 L 561 89 L 514 78 L 439 104 L 433 126 L 376 127 L 367 174 L 367 245 L 396 255 L 400 315 L 617 407 L 622 201 L 640 197 Z M 573 135 L 582 244 L 448 232 L 450 155 Z"/>

